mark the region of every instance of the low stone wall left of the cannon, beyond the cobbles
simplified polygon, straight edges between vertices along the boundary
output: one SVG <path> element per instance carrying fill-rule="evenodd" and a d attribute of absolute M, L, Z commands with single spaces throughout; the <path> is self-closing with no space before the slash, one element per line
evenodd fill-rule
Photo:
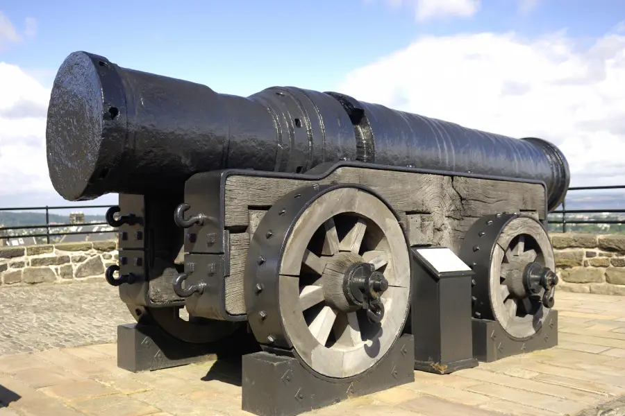
<path fill-rule="evenodd" d="M 117 241 L 0 247 L 0 285 L 105 281 Z"/>

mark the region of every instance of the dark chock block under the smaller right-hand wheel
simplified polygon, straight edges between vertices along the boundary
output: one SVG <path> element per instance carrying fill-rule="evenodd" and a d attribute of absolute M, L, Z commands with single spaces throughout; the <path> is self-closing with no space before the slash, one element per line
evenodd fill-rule
<path fill-rule="evenodd" d="M 558 311 L 552 309 L 542 327 L 526 340 L 517 340 L 503 331 L 499 322 L 473 319 L 473 354 L 490 363 L 501 358 L 548 349 L 558 345 Z"/>

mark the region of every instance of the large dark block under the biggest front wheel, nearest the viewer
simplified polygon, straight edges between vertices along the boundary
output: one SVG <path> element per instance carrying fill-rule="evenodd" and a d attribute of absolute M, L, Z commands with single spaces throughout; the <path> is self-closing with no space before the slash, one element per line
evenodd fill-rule
<path fill-rule="evenodd" d="M 414 338 L 403 335 L 377 365 L 356 379 L 322 379 L 297 358 L 258 352 L 243 357 L 242 409 L 259 416 L 293 416 L 412 383 Z"/>

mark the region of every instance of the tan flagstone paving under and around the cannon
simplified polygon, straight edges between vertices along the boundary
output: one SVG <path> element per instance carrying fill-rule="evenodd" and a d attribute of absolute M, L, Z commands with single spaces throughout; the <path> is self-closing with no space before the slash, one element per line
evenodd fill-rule
<path fill-rule="evenodd" d="M 115 296 L 110 295 L 110 304 L 117 304 Z M 83 298 L 69 296 L 63 302 L 65 311 Z M 413 383 L 309 414 L 625 415 L 625 297 L 560 292 L 556 302 L 558 347 L 450 375 L 415 372 Z M 42 305 L 28 313 L 47 313 Z M 83 316 L 83 323 L 91 316 L 102 320 L 99 313 L 80 311 L 67 316 Z M 110 322 L 101 324 L 96 336 L 101 339 L 114 336 L 115 319 L 127 321 L 122 311 L 107 316 Z M 228 367 L 205 362 L 133 374 L 117 368 L 116 354 L 114 343 L 104 343 L 0 357 L 0 401 L 8 404 L 0 406 L 0 416 L 250 415 L 240 410 L 237 363 Z"/>

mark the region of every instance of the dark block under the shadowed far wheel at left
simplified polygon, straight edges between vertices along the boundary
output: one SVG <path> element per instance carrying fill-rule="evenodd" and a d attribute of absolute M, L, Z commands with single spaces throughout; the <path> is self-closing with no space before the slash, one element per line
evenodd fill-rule
<path fill-rule="evenodd" d="M 184 343 L 153 325 L 117 327 L 117 367 L 124 370 L 160 370 L 215 359 L 213 345 Z"/>

